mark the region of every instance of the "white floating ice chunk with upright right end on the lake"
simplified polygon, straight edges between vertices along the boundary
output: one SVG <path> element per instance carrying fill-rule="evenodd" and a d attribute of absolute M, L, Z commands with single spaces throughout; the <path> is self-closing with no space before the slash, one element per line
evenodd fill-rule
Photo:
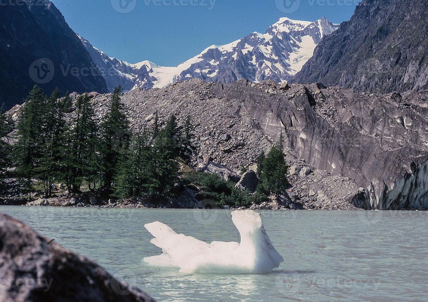
<path fill-rule="evenodd" d="M 177 234 L 158 221 L 145 225 L 155 237 L 150 242 L 162 249 L 158 256 L 144 262 L 156 266 L 179 267 L 182 273 L 268 273 L 284 261 L 272 246 L 260 214 L 233 211 L 232 221 L 241 235 L 241 243 L 213 241 L 206 243 Z"/>

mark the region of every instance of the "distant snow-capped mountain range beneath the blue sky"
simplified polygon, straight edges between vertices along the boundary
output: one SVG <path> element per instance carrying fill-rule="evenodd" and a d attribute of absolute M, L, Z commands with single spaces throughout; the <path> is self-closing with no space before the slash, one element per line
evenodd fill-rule
<path fill-rule="evenodd" d="M 109 90 L 120 84 L 127 91 L 135 87 L 162 88 L 190 78 L 222 83 L 239 79 L 289 80 L 309 60 L 321 38 L 338 26 L 324 17 L 315 22 L 281 18 L 264 34 L 253 32 L 230 44 L 212 45 L 176 67 L 149 61 L 129 64 L 107 56 L 79 38 L 101 70 Z"/>

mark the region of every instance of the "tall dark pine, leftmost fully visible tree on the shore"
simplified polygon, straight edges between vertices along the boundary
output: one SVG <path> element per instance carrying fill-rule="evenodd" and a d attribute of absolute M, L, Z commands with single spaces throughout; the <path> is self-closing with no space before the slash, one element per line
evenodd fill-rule
<path fill-rule="evenodd" d="M 23 193 L 34 191 L 33 179 L 39 165 L 42 150 L 43 108 L 45 108 L 45 93 L 37 85 L 30 91 L 29 97 L 21 109 L 17 124 L 17 142 L 15 144 L 16 175 Z"/>

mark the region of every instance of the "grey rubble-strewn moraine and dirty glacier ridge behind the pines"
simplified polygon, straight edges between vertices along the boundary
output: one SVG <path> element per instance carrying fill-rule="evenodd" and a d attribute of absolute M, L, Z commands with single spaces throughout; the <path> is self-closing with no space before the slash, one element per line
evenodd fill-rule
<path fill-rule="evenodd" d="M 109 97 L 92 98 L 99 119 Z M 137 88 L 123 97 L 137 131 L 152 123 L 156 110 L 162 122 L 175 114 L 183 123 L 190 115 L 196 134 L 191 165 L 199 170 L 209 161 L 232 171 L 249 167 L 282 132 L 294 172 L 291 191 L 309 208 L 346 208 L 353 202 L 379 209 L 428 207 L 425 100 L 421 92 L 381 95 L 322 84 L 284 89 L 273 81 L 199 79 Z M 9 111 L 14 119 L 19 108 Z"/>

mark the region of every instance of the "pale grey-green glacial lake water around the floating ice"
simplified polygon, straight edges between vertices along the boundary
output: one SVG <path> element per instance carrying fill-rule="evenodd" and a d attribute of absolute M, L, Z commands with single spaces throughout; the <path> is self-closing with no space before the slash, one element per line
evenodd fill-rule
<path fill-rule="evenodd" d="M 260 211 L 284 262 L 265 275 L 150 267 L 145 223 L 211 242 L 239 241 L 228 210 L 1 206 L 158 301 L 427 301 L 428 212 Z"/>

